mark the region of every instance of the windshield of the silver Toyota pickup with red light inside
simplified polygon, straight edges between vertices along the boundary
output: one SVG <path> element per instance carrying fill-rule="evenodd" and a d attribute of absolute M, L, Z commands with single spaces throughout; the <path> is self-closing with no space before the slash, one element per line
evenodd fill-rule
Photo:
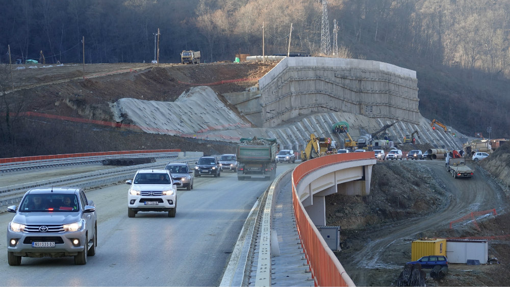
<path fill-rule="evenodd" d="M 19 205 L 20 212 L 78 212 L 74 194 L 28 194 Z"/>

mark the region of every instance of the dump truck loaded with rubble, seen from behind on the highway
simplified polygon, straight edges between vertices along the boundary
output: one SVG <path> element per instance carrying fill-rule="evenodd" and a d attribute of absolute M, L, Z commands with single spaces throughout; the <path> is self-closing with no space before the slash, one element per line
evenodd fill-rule
<path fill-rule="evenodd" d="M 237 145 L 237 180 L 264 177 L 272 180 L 276 175 L 276 139 L 241 138 Z"/>

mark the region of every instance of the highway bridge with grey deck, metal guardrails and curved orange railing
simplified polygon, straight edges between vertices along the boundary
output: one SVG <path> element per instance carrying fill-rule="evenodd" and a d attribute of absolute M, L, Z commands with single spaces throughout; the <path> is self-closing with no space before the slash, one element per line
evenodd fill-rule
<path fill-rule="evenodd" d="M 156 163 L 135 168 L 161 168 L 169 161 L 194 163 L 199 156 L 158 153 L 152 152 Z M 274 182 L 238 181 L 235 173 L 227 172 L 218 178 L 195 178 L 193 190 L 179 190 L 175 218 L 157 212 L 127 218 L 123 180 L 134 171 L 103 166 L 96 154 L 50 161 L 66 162 L 62 166 L 48 165 L 44 159 L 16 161 L 17 170 L 2 172 L 0 209 L 15 204 L 28 187 L 38 185 L 35 182 L 79 185 L 97 207 L 98 249 L 85 266 L 73 266 L 71 257 L 23 257 L 21 266 L 11 267 L 7 256 L 0 257 L 0 268 L 9 274 L 3 276 L 4 285 L 354 285 L 315 225 L 325 225 L 327 194 L 368 194 L 375 164 L 372 152 L 279 164 Z M 9 165 L 2 163 L 0 169 Z M 105 176 L 96 181 L 98 173 L 107 174 L 111 181 Z M 118 178 L 122 173 L 123 178 Z M 81 179 L 79 184 L 73 182 L 76 178 Z M 83 183 L 88 179 L 89 187 Z M 282 218 L 283 214 L 287 216 Z M 2 213 L 0 223 L 7 226 L 11 218 L 12 214 Z M 296 228 L 297 237 L 289 239 Z M 5 238 L 5 232 L 0 229 L 0 237 Z M 0 247 L 0 253 L 3 249 L 6 254 L 6 246 Z"/>

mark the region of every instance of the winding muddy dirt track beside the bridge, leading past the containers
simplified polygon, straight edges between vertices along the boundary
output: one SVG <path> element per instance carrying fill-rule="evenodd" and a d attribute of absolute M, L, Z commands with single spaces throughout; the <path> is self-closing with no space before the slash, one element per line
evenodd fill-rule
<path fill-rule="evenodd" d="M 444 208 L 429 216 L 348 231 L 346 240 L 350 248 L 339 252 L 338 257 L 356 285 L 394 285 L 405 262 L 411 260 L 411 242 L 413 240 L 421 237 L 465 237 L 465 229 L 476 228 L 476 225 L 466 221 L 454 224 L 452 229 L 448 230 L 450 221 L 462 218 L 471 212 L 492 210 L 493 208 L 498 214 L 502 214 L 508 208 L 507 201 L 502 198 L 501 190 L 491 184 L 479 169 L 471 179 L 454 179 L 446 171 L 443 161 L 397 161 L 382 164 L 427 165 L 432 170 L 435 180 L 442 182 L 449 198 Z M 419 192 L 430 191 L 421 189 Z M 478 221 L 482 221 L 483 217 L 480 216 Z M 447 230 L 449 234 L 441 234 L 444 230 Z M 479 268 L 485 267 L 490 266 L 480 266 Z M 456 265 L 450 269 L 462 268 L 470 269 L 471 267 Z M 450 274 L 453 273 L 451 270 Z M 465 281 L 461 281 L 460 284 L 477 285 L 479 282 L 484 282 L 482 284 L 491 285 L 490 275 L 484 274 L 484 271 L 480 273 L 479 276 L 487 276 L 488 280 L 474 279 L 471 278 L 472 273 L 466 273 L 461 276 Z M 477 281 L 478 283 L 476 283 Z M 497 281 L 492 281 L 492 283 L 501 285 Z M 435 284 L 437 284 L 436 281 L 428 279 L 427 285 Z"/>

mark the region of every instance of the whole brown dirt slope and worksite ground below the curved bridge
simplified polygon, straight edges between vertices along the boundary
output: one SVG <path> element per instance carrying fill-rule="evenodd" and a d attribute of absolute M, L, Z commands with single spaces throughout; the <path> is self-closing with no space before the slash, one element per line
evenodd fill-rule
<path fill-rule="evenodd" d="M 428 278 L 426 284 L 510 283 L 510 216 L 506 214 L 505 186 L 498 185 L 479 167 L 471 179 L 453 179 L 440 160 L 381 162 L 372 176 L 371 194 L 366 198 L 326 197 L 327 225 L 342 228 L 343 250 L 337 257 L 356 285 L 395 285 L 405 262 L 411 260 L 413 240 L 501 235 L 506 237 L 489 242 L 489 253 L 501 265 L 452 264 L 447 277 L 439 282 Z M 449 228 L 450 221 L 493 208 L 498 216 L 489 212 L 476 218 L 476 224 L 466 221 Z"/>

